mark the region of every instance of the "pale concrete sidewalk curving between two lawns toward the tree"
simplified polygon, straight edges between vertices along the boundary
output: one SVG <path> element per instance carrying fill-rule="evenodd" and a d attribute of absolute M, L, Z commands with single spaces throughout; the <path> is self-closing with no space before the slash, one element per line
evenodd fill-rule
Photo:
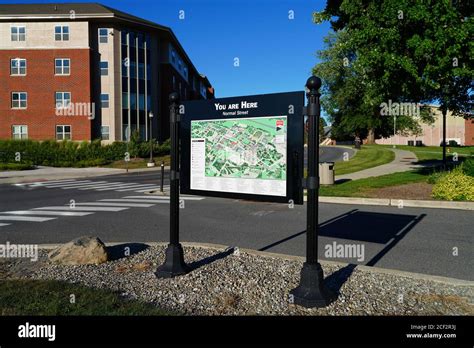
<path fill-rule="evenodd" d="M 336 181 L 364 179 L 370 178 L 372 176 L 406 172 L 409 170 L 420 169 L 424 167 L 421 164 L 417 164 L 418 159 L 416 158 L 416 155 L 413 152 L 399 149 L 390 150 L 395 152 L 395 159 L 392 162 L 351 174 L 337 175 Z"/>

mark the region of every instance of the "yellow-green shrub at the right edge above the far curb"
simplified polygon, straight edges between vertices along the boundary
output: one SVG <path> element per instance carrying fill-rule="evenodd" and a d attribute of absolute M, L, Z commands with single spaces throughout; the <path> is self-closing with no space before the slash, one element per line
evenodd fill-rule
<path fill-rule="evenodd" d="M 464 174 L 460 165 L 439 178 L 431 194 L 448 201 L 474 201 L 474 177 Z"/>

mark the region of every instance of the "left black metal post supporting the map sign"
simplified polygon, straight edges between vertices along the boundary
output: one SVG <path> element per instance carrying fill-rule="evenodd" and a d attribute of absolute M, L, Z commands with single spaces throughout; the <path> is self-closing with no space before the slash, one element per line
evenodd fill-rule
<path fill-rule="evenodd" d="M 172 278 L 189 272 L 184 262 L 183 247 L 179 243 L 179 95 L 173 92 L 170 99 L 171 172 L 170 172 L 170 243 L 165 262 L 158 267 L 158 278 Z"/>

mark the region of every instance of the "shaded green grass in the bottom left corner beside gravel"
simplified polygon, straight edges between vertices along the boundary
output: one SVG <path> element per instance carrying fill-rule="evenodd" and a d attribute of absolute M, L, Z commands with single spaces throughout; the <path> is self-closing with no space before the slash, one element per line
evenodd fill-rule
<path fill-rule="evenodd" d="M 75 303 L 71 303 L 71 294 Z M 53 280 L 1 280 L 0 315 L 172 315 L 117 293 Z"/>

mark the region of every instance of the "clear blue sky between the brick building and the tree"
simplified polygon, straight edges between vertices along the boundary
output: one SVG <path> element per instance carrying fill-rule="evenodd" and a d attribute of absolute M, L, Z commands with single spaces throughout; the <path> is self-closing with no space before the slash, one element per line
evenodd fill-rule
<path fill-rule="evenodd" d="M 0 0 L 50 2 L 81 1 Z M 303 90 L 329 31 L 328 23 L 311 22 L 312 12 L 324 9 L 325 0 L 96 2 L 171 27 L 218 98 Z M 184 20 L 179 19 L 180 10 Z M 294 11 L 292 20 L 289 11 Z M 239 58 L 239 67 L 234 67 L 234 58 Z"/>

